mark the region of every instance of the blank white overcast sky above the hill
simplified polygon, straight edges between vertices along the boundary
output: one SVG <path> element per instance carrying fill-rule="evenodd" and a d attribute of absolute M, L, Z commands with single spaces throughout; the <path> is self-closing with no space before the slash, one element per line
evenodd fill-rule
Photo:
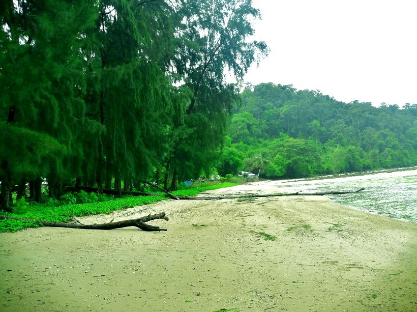
<path fill-rule="evenodd" d="M 417 103 L 417 1 L 253 0 L 271 52 L 246 82 L 293 84 L 336 100 Z"/>

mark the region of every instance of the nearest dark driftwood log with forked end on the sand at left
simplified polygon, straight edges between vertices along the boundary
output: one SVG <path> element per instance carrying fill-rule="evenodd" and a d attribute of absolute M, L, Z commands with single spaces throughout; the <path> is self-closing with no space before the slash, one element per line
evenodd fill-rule
<path fill-rule="evenodd" d="M 108 223 L 101 223 L 101 224 L 53 222 L 53 221 L 46 221 L 46 220 L 34 220 L 34 219 L 16 218 L 16 217 L 11 217 L 11 216 L 0 215 L 0 220 L 2 219 L 35 221 L 37 223 L 42 224 L 43 226 L 54 226 L 55 228 L 71 228 L 71 229 L 86 229 L 86 230 L 113 230 L 113 229 L 126 228 L 127 226 L 136 226 L 137 228 L 143 231 L 167 231 L 166 229 L 159 228 L 159 226 L 146 224 L 145 222 L 156 220 L 156 219 L 164 219 L 168 221 L 168 217 L 165 215 L 165 212 L 152 214 L 152 215 L 149 214 L 147 216 L 140 217 L 138 219 L 130 219 L 130 220 L 117 221 L 117 222 L 110 221 Z"/>

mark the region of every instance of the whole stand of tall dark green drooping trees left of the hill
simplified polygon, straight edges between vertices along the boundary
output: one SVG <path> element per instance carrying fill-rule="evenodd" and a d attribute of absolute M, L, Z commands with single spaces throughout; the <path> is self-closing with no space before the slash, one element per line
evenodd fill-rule
<path fill-rule="evenodd" d="M 5 0 L 0 17 L 5 210 L 45 179 L 56 197 L 209 172 L 239 101 L 225 73 L 267 53 L 251 0 Z"/>

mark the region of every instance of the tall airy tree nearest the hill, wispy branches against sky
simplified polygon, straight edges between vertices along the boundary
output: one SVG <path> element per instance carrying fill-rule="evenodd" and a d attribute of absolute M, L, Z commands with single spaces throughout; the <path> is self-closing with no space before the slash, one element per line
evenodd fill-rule
<path fill-rule="evenodd" d="M 254 33 L 252 22 L 259 17 L 251 0 L 182 2 L 180 12 L 182 45 L 173 61 L 174 72 L 192 96 L 184 123 L 174 125 L 190 131 L 174 142 L 168 160 L 172 188 L 178 174 L 198 176 L 204 166 L 216 162 L 230 111 L 239 100 L 236 87 L 226 82 L 226 71 L 241 81 L 267 52 L 265 43 L 248 40 Z"/>

